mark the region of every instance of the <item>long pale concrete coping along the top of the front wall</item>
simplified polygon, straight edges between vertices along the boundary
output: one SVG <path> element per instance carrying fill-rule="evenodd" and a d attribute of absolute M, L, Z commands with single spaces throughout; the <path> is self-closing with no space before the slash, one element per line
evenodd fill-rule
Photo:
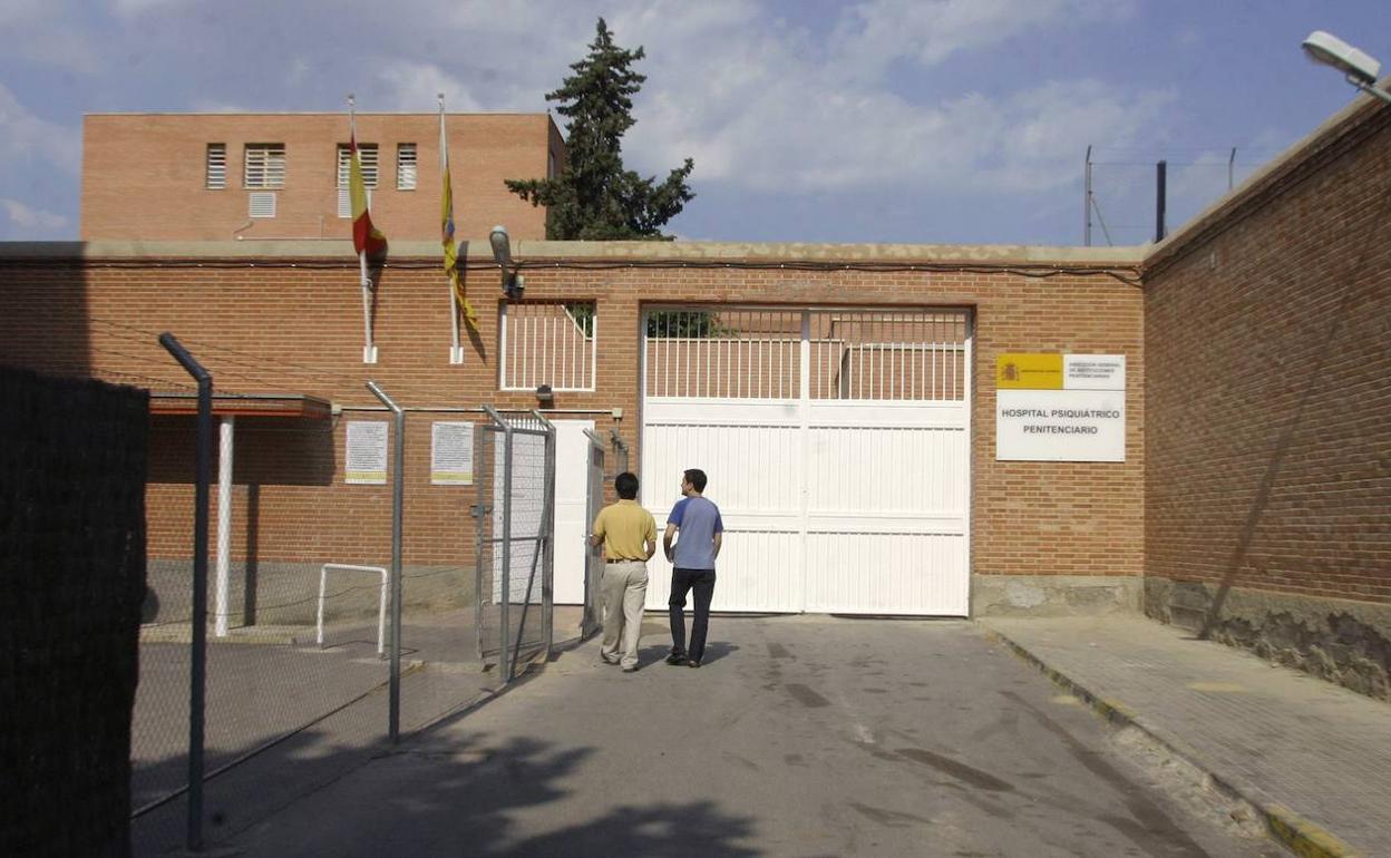
<path fill-rule="evenodd" d="M 485 238 L 469 239 L 463 257 L 473 263 L 492 260 Z M 438 259 L 437 242 L 396 242 L 391 259 Z M 830 245 L 797 242 L 548 242 L 513 241 L 512 256 L 523 266 L 541 259 L 594 259 L 609 261 L 650 260 L 748 260 L 748 261 L 846 261 L 846 263 L 960 263 L 990 267 L 1096 266 L 1135 267 L 1143 248 L 1052 248 L 1025 245 Z M 0 261 L 8 260 L 138 260 L 138 259 L 246 259 L 355 260 L 352 242 L 344 239 L 249 239 L 223 242 L 0 242 Z"/>

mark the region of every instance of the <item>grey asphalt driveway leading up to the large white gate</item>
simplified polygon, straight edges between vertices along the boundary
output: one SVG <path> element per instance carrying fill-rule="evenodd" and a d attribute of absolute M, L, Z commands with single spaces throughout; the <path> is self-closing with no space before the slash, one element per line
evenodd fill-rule
<path fill-rule="evenodd" d="M 243 832 L 249 855 L 1281 855 L 970 623 L 594 641 Z M 1182 794 L 1180 794 L 1182 793 Z"/>

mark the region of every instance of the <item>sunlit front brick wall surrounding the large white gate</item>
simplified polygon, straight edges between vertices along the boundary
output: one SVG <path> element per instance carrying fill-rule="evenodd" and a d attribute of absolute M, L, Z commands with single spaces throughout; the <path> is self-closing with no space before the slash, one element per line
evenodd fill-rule
<path fill-rule="evenodd" d="M 545 253 L 561 256 L 584 250 L 565 243 L 547 248 Z M 727 252 L 691 248 L 697 256 Z M 779 268 L 776 260 L 762 268 L 676 263 L 665 268 L 619 264 L 566 270 L 545 267 L 540 253 L 517 253 L 534 261 L 526 273 L 527 298 L 594 300 L 601 320 L 598 389 L 559 392 L 555 407 L 598 410 L 598 428 L 616 427 L 636 456 L 641 456 L 637 331 L 644 302 L 971 309 L 974 573 L 1141 573 L 1146 360 L 1138 288 L 1104 274 L 1024 277 L 1004 270 L 1020 264 L 1021 256 L 993 250 L 1000 261 L 974 261 L 974 271 L 794 271 Z M 629 250 L 622 246 L 602 250 L 605 256 L 623 253 Z M 638 257 L 644 252 L 632 253 Z M 472 270 L 466 278 L 481 327 L 466 346 L 463 366 L 448 363 L 449 305 L 434 259 L 394 257 L 383 274 L 376 366 L 362 363 L 356 267 L 346 254 L 252 263 L 220 260 L 210 248 L 203 259 L 106 257 L 64 271 L 51 263 L 0 261 L 0 278 L 8 284 L 0 292 L 0 360 L 157 389 L 191 389 L 154 342 L 160 331 L 174 331 L 214 373 L 218 391 L 303 392 L 339 405 L 371 406 L 376 400 L 363 387 L 371 378 L 408 406 L 536 406 L 527 392 L 497 391 L 495 268 Z M 63 306 L 81 311 L 81 318 L 64 318 L 47 302 L 56 281 L 60 292 L 72 295 Z M 53 337 L 72 325 L 88 331 L 82 349 Z M 1127 355 L 1125 463 L 995 462 L 995 359 L 1007 350 Z M 609 417 L 613 407 L 623 409 L 622 420 Z M 252 541 L 260 562 L 388 558 L 389 487 L 342 484 L 342 420 L 373 417 L 348 412 L 332 424 L 239 419 L 234 555 L 245 556 Z M 466 516 L 472 489 L 428 485 L 433 419 L 409 417 L 405 562 L 472 562 L 473 521 Z M 191 419 L 154 423 L 149 489 L 153 556 L 186 555 L 191 542 Z M 632 467 L 637 464 L 634 458 Z M 243 485 L 255 485 L 255 491 Z M 246 533 L 252 502 L 255 540 Z"/>

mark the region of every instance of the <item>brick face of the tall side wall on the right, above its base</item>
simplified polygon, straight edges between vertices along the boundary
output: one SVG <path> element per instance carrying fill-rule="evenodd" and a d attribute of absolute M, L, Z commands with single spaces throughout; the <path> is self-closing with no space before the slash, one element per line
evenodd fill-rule
<path fill-rule="evenodd" d="M 1391 114 L 1358 115 L 1146 275 L 1146 576 L 1391 605 Z"/>

